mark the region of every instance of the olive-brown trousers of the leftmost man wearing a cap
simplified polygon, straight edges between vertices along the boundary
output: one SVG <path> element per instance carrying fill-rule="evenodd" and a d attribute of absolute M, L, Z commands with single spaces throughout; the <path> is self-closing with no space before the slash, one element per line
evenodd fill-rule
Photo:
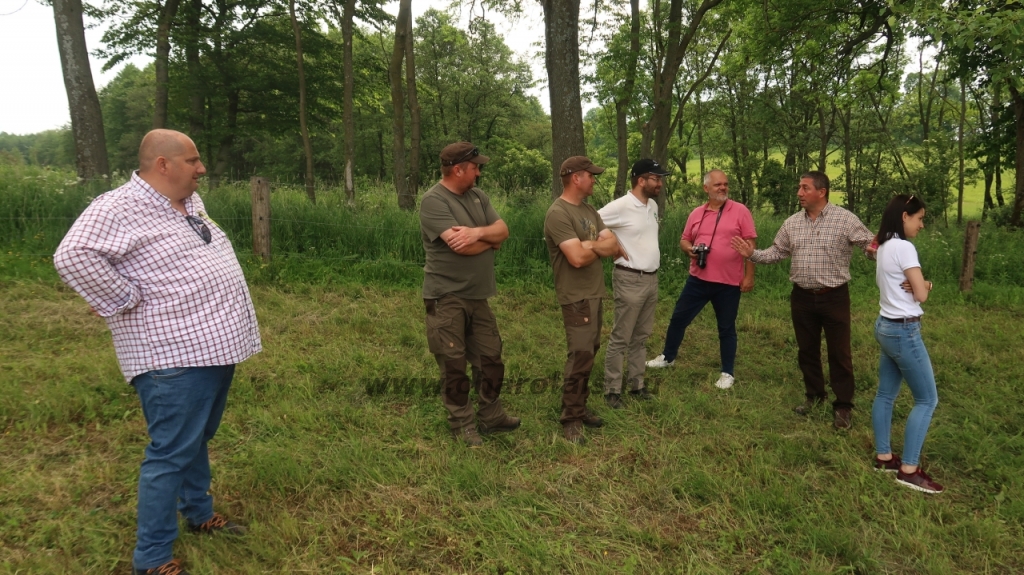
<path fill-rule="evenodd" d="M 505 380 L 502 339 L 486 300 L 464 300 L 446 295 L 424 300 L 427 307 L 427 345 L 441 371 L 441 402 L 453 430 L 474 425 L 469 389 L 476 390 L 476 417 L 483 425 L 504 419 L 499 397 Z M 466 364 L 473 368 L 472 381 Z"/>

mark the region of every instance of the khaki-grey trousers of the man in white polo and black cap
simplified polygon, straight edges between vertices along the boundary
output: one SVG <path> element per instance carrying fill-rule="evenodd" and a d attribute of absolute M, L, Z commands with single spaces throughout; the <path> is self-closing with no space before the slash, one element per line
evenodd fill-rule
<path fill-rule="evenodd" d="M 654 329 L 657 275 L 615 268 L 611 273 L 615 323 L 604 356 L 604 393 L 623 393 L 623 363 L 628 359 L 630 389 L 643 388 L 647 367 L 647 338 Z"/>

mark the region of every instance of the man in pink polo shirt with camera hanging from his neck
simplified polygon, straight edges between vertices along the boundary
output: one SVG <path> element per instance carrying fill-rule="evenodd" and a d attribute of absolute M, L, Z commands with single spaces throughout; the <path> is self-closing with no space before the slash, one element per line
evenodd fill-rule
<path fill-rule="evenodd" d="M 676 301 L 665 351 L 647 362 L 647 367 L 668 367 L 679 354 L 686 327 L 708 303 L 715 309 L 718 340 L 722 355 L 722 374 L 715 385 L 729 389 L 734 383 L 736 360 L 736 314 L 739 295 L 754 289 L 754 264 L 744 260 L 729 241 L 737 236 L 753 249 L 758 236 L 754 218 L 746 206 L 729 201 L 729 178 L 721 170 L 705 175 L 708 203 L 698 206 L 686 219 L 679 247 L 690 258 L 690 276 Z"/>

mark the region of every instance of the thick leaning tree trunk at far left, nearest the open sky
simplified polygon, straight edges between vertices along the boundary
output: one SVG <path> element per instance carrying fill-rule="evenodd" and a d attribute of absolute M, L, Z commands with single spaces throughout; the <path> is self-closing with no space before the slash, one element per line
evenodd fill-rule
<path fill-rule="evenodd" d="M 56 26 L 65 90 L 68 92 L 78 177 L 110 181 L 103 115 L 92 83 L 89 51 L 85 45 L 82 0 L 53 0 L 53 23 Z"/>

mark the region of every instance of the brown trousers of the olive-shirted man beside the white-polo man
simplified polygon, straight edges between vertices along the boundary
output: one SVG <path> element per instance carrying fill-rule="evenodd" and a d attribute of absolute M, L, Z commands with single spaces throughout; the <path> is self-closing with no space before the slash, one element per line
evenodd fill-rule
<path fill-rule="evenodd" d="M 587 413 L 590 397 L 590 372 L 594 356 L 601 347 L 601 300 L 581 300 L 562 306 L 565 324 L 565 360 L 562 384 L 563 424 L 579 422 Z"/>

